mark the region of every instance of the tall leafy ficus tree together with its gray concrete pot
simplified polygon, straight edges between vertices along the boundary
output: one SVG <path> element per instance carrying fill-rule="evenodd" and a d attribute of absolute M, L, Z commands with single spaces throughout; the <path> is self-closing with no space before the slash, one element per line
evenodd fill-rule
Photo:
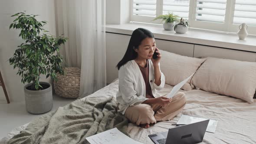
<path fill-rule="evenodd" d="M 53 107 L 52 86 L 48 82 L 40 82 L 41 75 L 57 80 L 56 73 L 63 74 L 62 56 L 59 55 L 60 45 L 67 38 L 52 36 L 43 29 L 46 21 L 37 21 L 38 15 L 16 13 L 17 18 L 10 24 L 10 29 L 20 29 L 19 37 L 24 43 L 18 46 L 12 58 L 9 59 L 13 69 L 24 86 L 26 110 L 32 114 L 48 112 Z"/>

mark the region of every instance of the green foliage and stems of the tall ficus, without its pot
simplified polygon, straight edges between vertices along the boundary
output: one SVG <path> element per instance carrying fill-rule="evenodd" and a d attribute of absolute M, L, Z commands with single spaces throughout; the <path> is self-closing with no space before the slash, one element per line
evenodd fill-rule
<path fill-rule="evenodd" d="M 38 15 L 16 13 L 13 16 L 17 18 L 10 24 L 9 29 L 20 29 L 19 37 L 21 36 L 24 43 L 18 46 L 13 57 L 9 59 L 10 65 L 13 65 L 13 69 L 18 68 L 17 75 L 21 75 L 21 82 L 32 82 L 31 90 L 43 89 L 39 84 L 40 75 L 46 75 L 46 78 L 51 76 L 53 80 L 57 80 L 56 73 L 64 74 L 59 49 L 67 38 L 50 35 L 49 31 L 43 29 L 47 22 L 36 20 Z"/>

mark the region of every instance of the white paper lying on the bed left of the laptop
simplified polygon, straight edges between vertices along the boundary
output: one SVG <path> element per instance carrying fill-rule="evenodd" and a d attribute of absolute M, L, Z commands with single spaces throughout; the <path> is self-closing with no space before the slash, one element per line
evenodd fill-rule
<path fill-rule="evenodd" d="M 90 144 L 143 144 L 131 139 L 117 128 L 86 137 Z"/>

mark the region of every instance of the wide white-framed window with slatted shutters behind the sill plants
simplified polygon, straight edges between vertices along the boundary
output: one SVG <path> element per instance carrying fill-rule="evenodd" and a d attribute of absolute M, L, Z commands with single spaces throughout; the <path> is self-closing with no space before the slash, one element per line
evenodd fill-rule
<path fill-rule="evenodd" d="M 132 0 L 131 21 L 161 24 L 156 16 L 174 13 L 191 28 L 237 32 L 242 23 L 256 35 L 256 0 Z"/>

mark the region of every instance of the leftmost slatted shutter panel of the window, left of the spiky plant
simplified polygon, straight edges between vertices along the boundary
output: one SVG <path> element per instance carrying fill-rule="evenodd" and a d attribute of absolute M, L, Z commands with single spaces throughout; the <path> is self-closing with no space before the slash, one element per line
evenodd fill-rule
<path fill-rule="evenodd" d="M 157 0 L 133 0 L 133 15 L 156 16 Z"/>

